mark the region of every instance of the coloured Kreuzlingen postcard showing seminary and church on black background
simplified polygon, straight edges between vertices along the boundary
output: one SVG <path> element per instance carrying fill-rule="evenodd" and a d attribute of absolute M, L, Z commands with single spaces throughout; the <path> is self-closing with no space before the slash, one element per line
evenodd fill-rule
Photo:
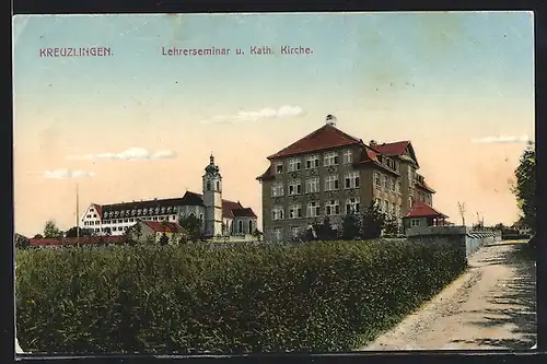
<path fill-rule="evenodd" d="M 534 349 L 533 24 L 14 16 L 18 353 Z"/>

